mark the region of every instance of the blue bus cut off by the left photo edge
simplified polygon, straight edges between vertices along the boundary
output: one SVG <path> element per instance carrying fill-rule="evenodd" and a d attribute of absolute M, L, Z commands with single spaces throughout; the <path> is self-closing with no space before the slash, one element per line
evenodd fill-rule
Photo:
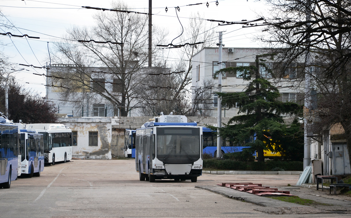
<path fill-rule="evenodd" d="M 1 116 L 0 133 L 0 188 L 8 189 L 18 174 L 18 127 Z"/>

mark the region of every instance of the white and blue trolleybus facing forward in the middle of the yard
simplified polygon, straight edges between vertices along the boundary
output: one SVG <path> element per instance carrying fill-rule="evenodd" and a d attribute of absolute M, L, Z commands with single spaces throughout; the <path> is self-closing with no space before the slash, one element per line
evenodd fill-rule
<path fill-rule="evenodd" d="M 140 181 L 197 182 L 202 174 L 202 127 L 183 115 L 161 115 L 136 130 L 135 168 Z"/>

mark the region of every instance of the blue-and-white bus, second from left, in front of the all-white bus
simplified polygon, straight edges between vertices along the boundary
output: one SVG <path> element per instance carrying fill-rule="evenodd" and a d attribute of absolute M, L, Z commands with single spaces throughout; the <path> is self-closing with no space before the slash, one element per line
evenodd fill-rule
<path fill-rule="evenodd" d="M 44 137 L 31 125 L 16 124 L 20 132 L 21 174 L 31 178 L 44 170 Z"/>

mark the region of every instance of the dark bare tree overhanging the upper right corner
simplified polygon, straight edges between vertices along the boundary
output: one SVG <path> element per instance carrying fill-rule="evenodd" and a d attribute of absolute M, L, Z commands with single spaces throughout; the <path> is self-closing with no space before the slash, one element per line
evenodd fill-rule
<path fill-rule="evenodd" d="M 351 2 L 266 2 L 272 6 L 271 15 L 261 24 L 265 31 L 258 39 L 274 48 L 277 63 L 301 69 L 302 75 L 311 77 L 311 90 L 305 97 L 311 96 L 317 103 L 306 113 L 314 119 L 313 129 L 323 133 L 341 123 L 351 160 Z"/>

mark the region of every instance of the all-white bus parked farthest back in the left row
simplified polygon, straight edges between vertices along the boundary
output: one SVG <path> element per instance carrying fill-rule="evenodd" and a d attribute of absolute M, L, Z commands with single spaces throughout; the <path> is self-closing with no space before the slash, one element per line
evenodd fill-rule
<path fill-rule="evenodd" d="M 30 124 L 44 135 L 45 163 L 72 159 L 72 130 L 63 124 Z"/>

